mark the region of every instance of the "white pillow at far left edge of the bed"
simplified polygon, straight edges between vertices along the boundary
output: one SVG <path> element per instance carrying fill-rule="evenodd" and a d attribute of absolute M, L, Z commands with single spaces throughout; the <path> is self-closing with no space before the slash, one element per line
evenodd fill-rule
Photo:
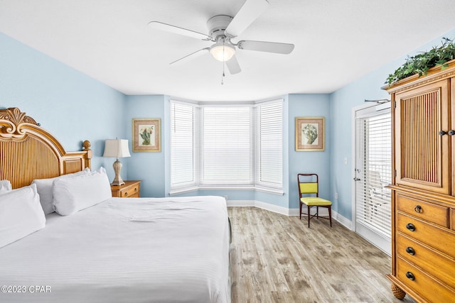
<path fill-rule="evenodd" d="M 0 247 L 45 226 L 45 215 L 36 185 L 0 194 Z"/>

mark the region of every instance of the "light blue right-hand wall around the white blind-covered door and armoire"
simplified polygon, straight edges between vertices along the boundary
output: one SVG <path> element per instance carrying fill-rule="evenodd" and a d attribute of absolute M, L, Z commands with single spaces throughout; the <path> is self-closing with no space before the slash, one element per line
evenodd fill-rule
<path fill-rule="evenodd" d="M 346 219 L 352 219 L 351 205 L 353 203 L 351 194 L 351 184 L 354 177 L 351 163 L 353 160 L 351 157 L 351 142 L 353 140 L 351 130 L 352 108 L 364 104 L 365 99 L 390 99 L 387 92 L 381 89 L 385 85 L 387 76 L 405 62 L 407 55 L 416 55 L 419 52 L 441 45 L 442 37 L 455 38 L 455 28 L 415 50 L 410 50 L 409 53 L 403 54 L 402 57 L 398 57 L 378 70 L 368 73 L 368 75 L 331 94 L 330 187 L 332 190 L 330 198 L 334 202 L 333 209 Z M 384 41 L 384 43 L 387 43 L 387 41 Z M 372 54 L 372 56 L 374 55 Z M 348 158 L 347 165 L 344 164 L 345 157 Z M 335 192 L 338 192 L 338 199 L 335 199 Z"/>

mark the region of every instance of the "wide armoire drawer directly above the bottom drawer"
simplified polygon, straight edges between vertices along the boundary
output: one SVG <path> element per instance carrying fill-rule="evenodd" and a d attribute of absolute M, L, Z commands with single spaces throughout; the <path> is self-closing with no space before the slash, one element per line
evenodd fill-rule
<path fill-rule="evenodd" d="M 424 272 L 432 272 L 442 282 L 455 288 L 455 260 L 397 233 L 396 253 Z"/>

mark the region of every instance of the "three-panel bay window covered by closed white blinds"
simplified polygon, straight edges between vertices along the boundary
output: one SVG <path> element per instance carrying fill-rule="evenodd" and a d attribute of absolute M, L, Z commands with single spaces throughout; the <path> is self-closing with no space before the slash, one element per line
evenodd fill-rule
<path fill-rule="evenodd" d="M 282 99 L 260 104 L 171 101 L 171 189 L 282 189 Z"/>

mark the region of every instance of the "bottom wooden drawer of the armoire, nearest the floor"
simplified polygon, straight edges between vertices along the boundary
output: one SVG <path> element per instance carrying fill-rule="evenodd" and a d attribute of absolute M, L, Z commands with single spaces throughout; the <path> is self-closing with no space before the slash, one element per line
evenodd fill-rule
<path fill-rule="evenodd" d="M 397 258 L 397 278 L 414 292 L 426 298 L 427 302 L 454 302 L 455 290 L 444 287 L 437 280 L 402 258 Z"/>

